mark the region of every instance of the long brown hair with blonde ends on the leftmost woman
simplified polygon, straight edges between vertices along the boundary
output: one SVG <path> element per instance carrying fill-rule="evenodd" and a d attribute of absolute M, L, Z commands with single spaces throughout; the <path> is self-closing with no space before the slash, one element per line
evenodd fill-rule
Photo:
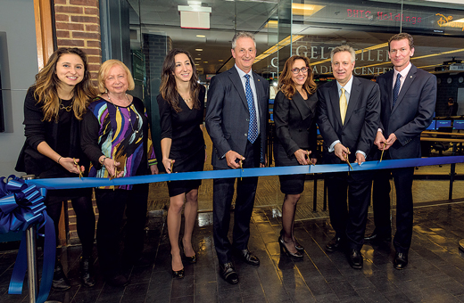
<path fill-rule="evenodd" d="M 95 88 L 90 82 L 90 71 L 88 70 L 87 55 L 79 48 L 59 48 L 46 62 L 46 66 L 36 75 L 36 83 L 31 86 L 34 89 L 34 97 L 38 104 L 42 104 L 44 121 L 50 122 L 59 119 L 60 98 L 58 87 L 61 80 L 56 76 L 56 64 L 65 53 L 77 54 L 84 62 L 84 78 L 73 88 L 72 110 L 76 119 L 82 119 L 87 111 L 90 100 L 96 96 Z"/>

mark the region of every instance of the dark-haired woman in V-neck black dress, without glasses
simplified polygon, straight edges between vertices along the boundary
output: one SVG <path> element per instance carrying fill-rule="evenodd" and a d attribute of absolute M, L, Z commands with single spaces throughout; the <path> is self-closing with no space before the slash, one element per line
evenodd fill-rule
<path fill-rule="evenodd" d="M 203 139 L 204 86 L 198 83 L 195 64 L 190 53 L 173 49 L 162 65 L 161 94 L 156 98 L 162 128 L 162 164 L 168 174 L 203 170 L 206 152 Z M 184 201 L 185 229 L 180 246 L 189 263 L 196 262 L 192 246 L 198 187 L 202 180 L 172 181 L 168 183 L 170 209 L 168 233 L 172 256 L 172 275 L 184 277 L 180 257 L 179 232 Z"/>

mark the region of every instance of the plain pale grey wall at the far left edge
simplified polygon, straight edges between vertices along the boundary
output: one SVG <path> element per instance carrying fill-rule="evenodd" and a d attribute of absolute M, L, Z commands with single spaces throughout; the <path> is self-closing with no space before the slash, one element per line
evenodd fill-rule
<path fill-rule="evenodd" d="M 30 0 L 1 0 L 0 70 L 5 132 L 0 133 L 0 176 L 15 174 L 24 143 L 24 97 L 37 74 L 34 4 Z"/>

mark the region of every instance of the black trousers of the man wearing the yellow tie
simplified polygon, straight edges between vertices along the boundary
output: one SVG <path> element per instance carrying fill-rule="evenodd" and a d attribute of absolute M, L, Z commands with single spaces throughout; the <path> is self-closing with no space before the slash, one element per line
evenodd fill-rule
<path fill-rule="evenodd" d="M 368 218 L 372 172 L 327 174 L 326 181 L 330 224 L 349 249 L 360 250 Z"/>

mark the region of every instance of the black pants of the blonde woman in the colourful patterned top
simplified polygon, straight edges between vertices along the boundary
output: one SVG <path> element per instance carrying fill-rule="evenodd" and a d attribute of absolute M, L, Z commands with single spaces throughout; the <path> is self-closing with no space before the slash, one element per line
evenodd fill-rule
<path fill-rule="evenodd" d="M 127 233 L 124 258 L 137 260 L 144 249 L 144 228 L 148 199 L 148 184 L 135 184 L 132 190 L 95 189 L 99 218 L 96 228 L 96 248 L 102 271 L 106 276 L 120 274 L 120 229 L 124 209 Z"/>

